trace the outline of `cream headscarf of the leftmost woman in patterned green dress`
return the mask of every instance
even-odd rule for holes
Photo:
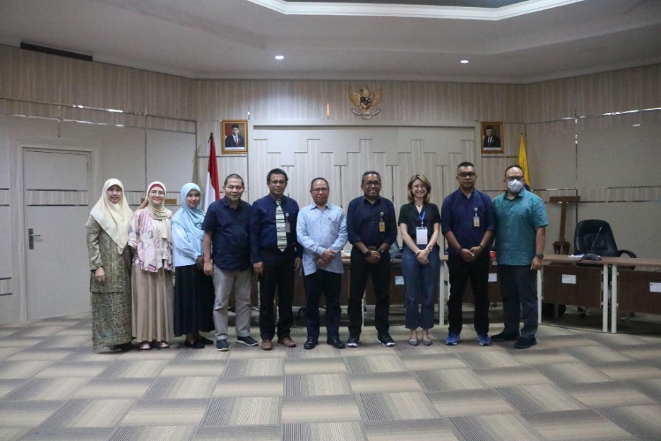
[[[119,201],[119,204],[113,204],[108,199],[108,189],[113,185],[121,188],[121,201]],[[129,208],[129,203],[126,202],[124,185],[121,184],[121,181],[112,178],[103,184],[101,197],[92,208],[92,211],[90,211],[90,215],[108,233],[113,242],[117,244],[119,254],[124,252],[126,242],[129,242],[129,224],[131,223],[133,211]]]

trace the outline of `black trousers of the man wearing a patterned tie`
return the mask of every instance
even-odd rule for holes
[[[290,336],[294,314],[292,299],[294,298],[294,260],[296,252],[285,249],[285,252],[272,249],[261,249],[264,272],[259,281],[259,333],[262,340],[278,339]],[[275,329],[275,309],[273,302],[278,294],[278,329]]]

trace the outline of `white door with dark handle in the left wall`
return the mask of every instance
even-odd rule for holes
[[[90,310],[90,174],[89,152],[23,150],[28,319]]]

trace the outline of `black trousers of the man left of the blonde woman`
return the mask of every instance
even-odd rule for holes
[[[376,264],[368,264],[362,252],[357,248],[351,250],[351,273],[349,276],[349,335],[360,336],[362,327],[362,298],[371,276],[376,296],[374,310],[374,326],[379,334],[385,334],[390,329],[388,313],[390,312],[390,253],[384,252]]]

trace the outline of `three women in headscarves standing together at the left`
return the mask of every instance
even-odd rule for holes
[[[213,343],[200,334],[213,329],[213,283],[200,259],[201,191],[184,185],[174,216],[165,194],[164,184],[152,182],[133,213],[123,184],[110,179],[90,212],[85,227],[95,351],[129,349],[133,339],[141,350],[167,348],[175,335],[186,335],[192,348]]]

